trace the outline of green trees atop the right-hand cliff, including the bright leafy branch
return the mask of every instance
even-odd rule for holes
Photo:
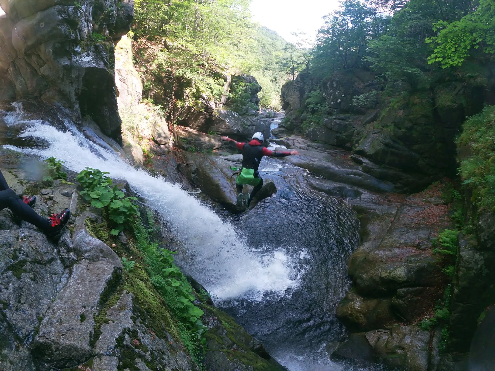
[[[315,126],[332,113],[321,82],[338,72],[373,74],[370,89],[352,99],[357,111],[378,102],[400,104],[445,81],[485,85],[493,25],[493,1],[343,1],[318,32],[310,66],[316,84],[299,112],[302,123]]]

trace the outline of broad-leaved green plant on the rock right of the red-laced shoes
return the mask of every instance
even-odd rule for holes
[[[125,197],[117,185],[112,187],[113,181],[105,174],[109,173],[86,168],[78,174],[77,180],[84,188],[80,194],[87,201],[91,201],[91,206],[108,211],[108,217],[114,223],[110,233],[117,235],[124,228],[135,225],[139,211],[132,201],[137,198]]]

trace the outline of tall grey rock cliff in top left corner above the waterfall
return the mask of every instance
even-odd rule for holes
[[[3,0],[0,100],[61,104],[120,141],[114,43],[134,17],[132,0]]]

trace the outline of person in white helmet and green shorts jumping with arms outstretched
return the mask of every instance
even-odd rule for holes
[[[297,151],[272,151],[263,147],[264,137],[260,132],[254,133],[249,143],[238,142],[225,136],[221,139],[234,142],[237,149],[243,151],[243,166],[241,168],[241,173],[236,178],[238,207],[242,207],[243,203],[245,203],[246,208],[249,207],[254,195],[263,186],[263,179],[261,179],[258,173],[259,163],[263,156],[285,157],[299,154]],[[243,196],[244,185],[254,185],[251,194],[246,194],[246,197]]]

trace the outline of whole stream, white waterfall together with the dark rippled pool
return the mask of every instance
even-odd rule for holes
[[[342,200],[307,185],[311,175],[303,169],[263,160],[261,175],[275,182],[277,194],[230,216],[179,185],[136,170],[69,119],[61,120],[64,127],[25,119],[15,104],[14,111],[0,110],[0,145],[56,157],[75,172],[92,167],[126,180],[173,230],[180,265],[289,370],[377,370],[329,358],[345,336],[334,313],[349,285],[346,260],[358,245],[359,226]]]

